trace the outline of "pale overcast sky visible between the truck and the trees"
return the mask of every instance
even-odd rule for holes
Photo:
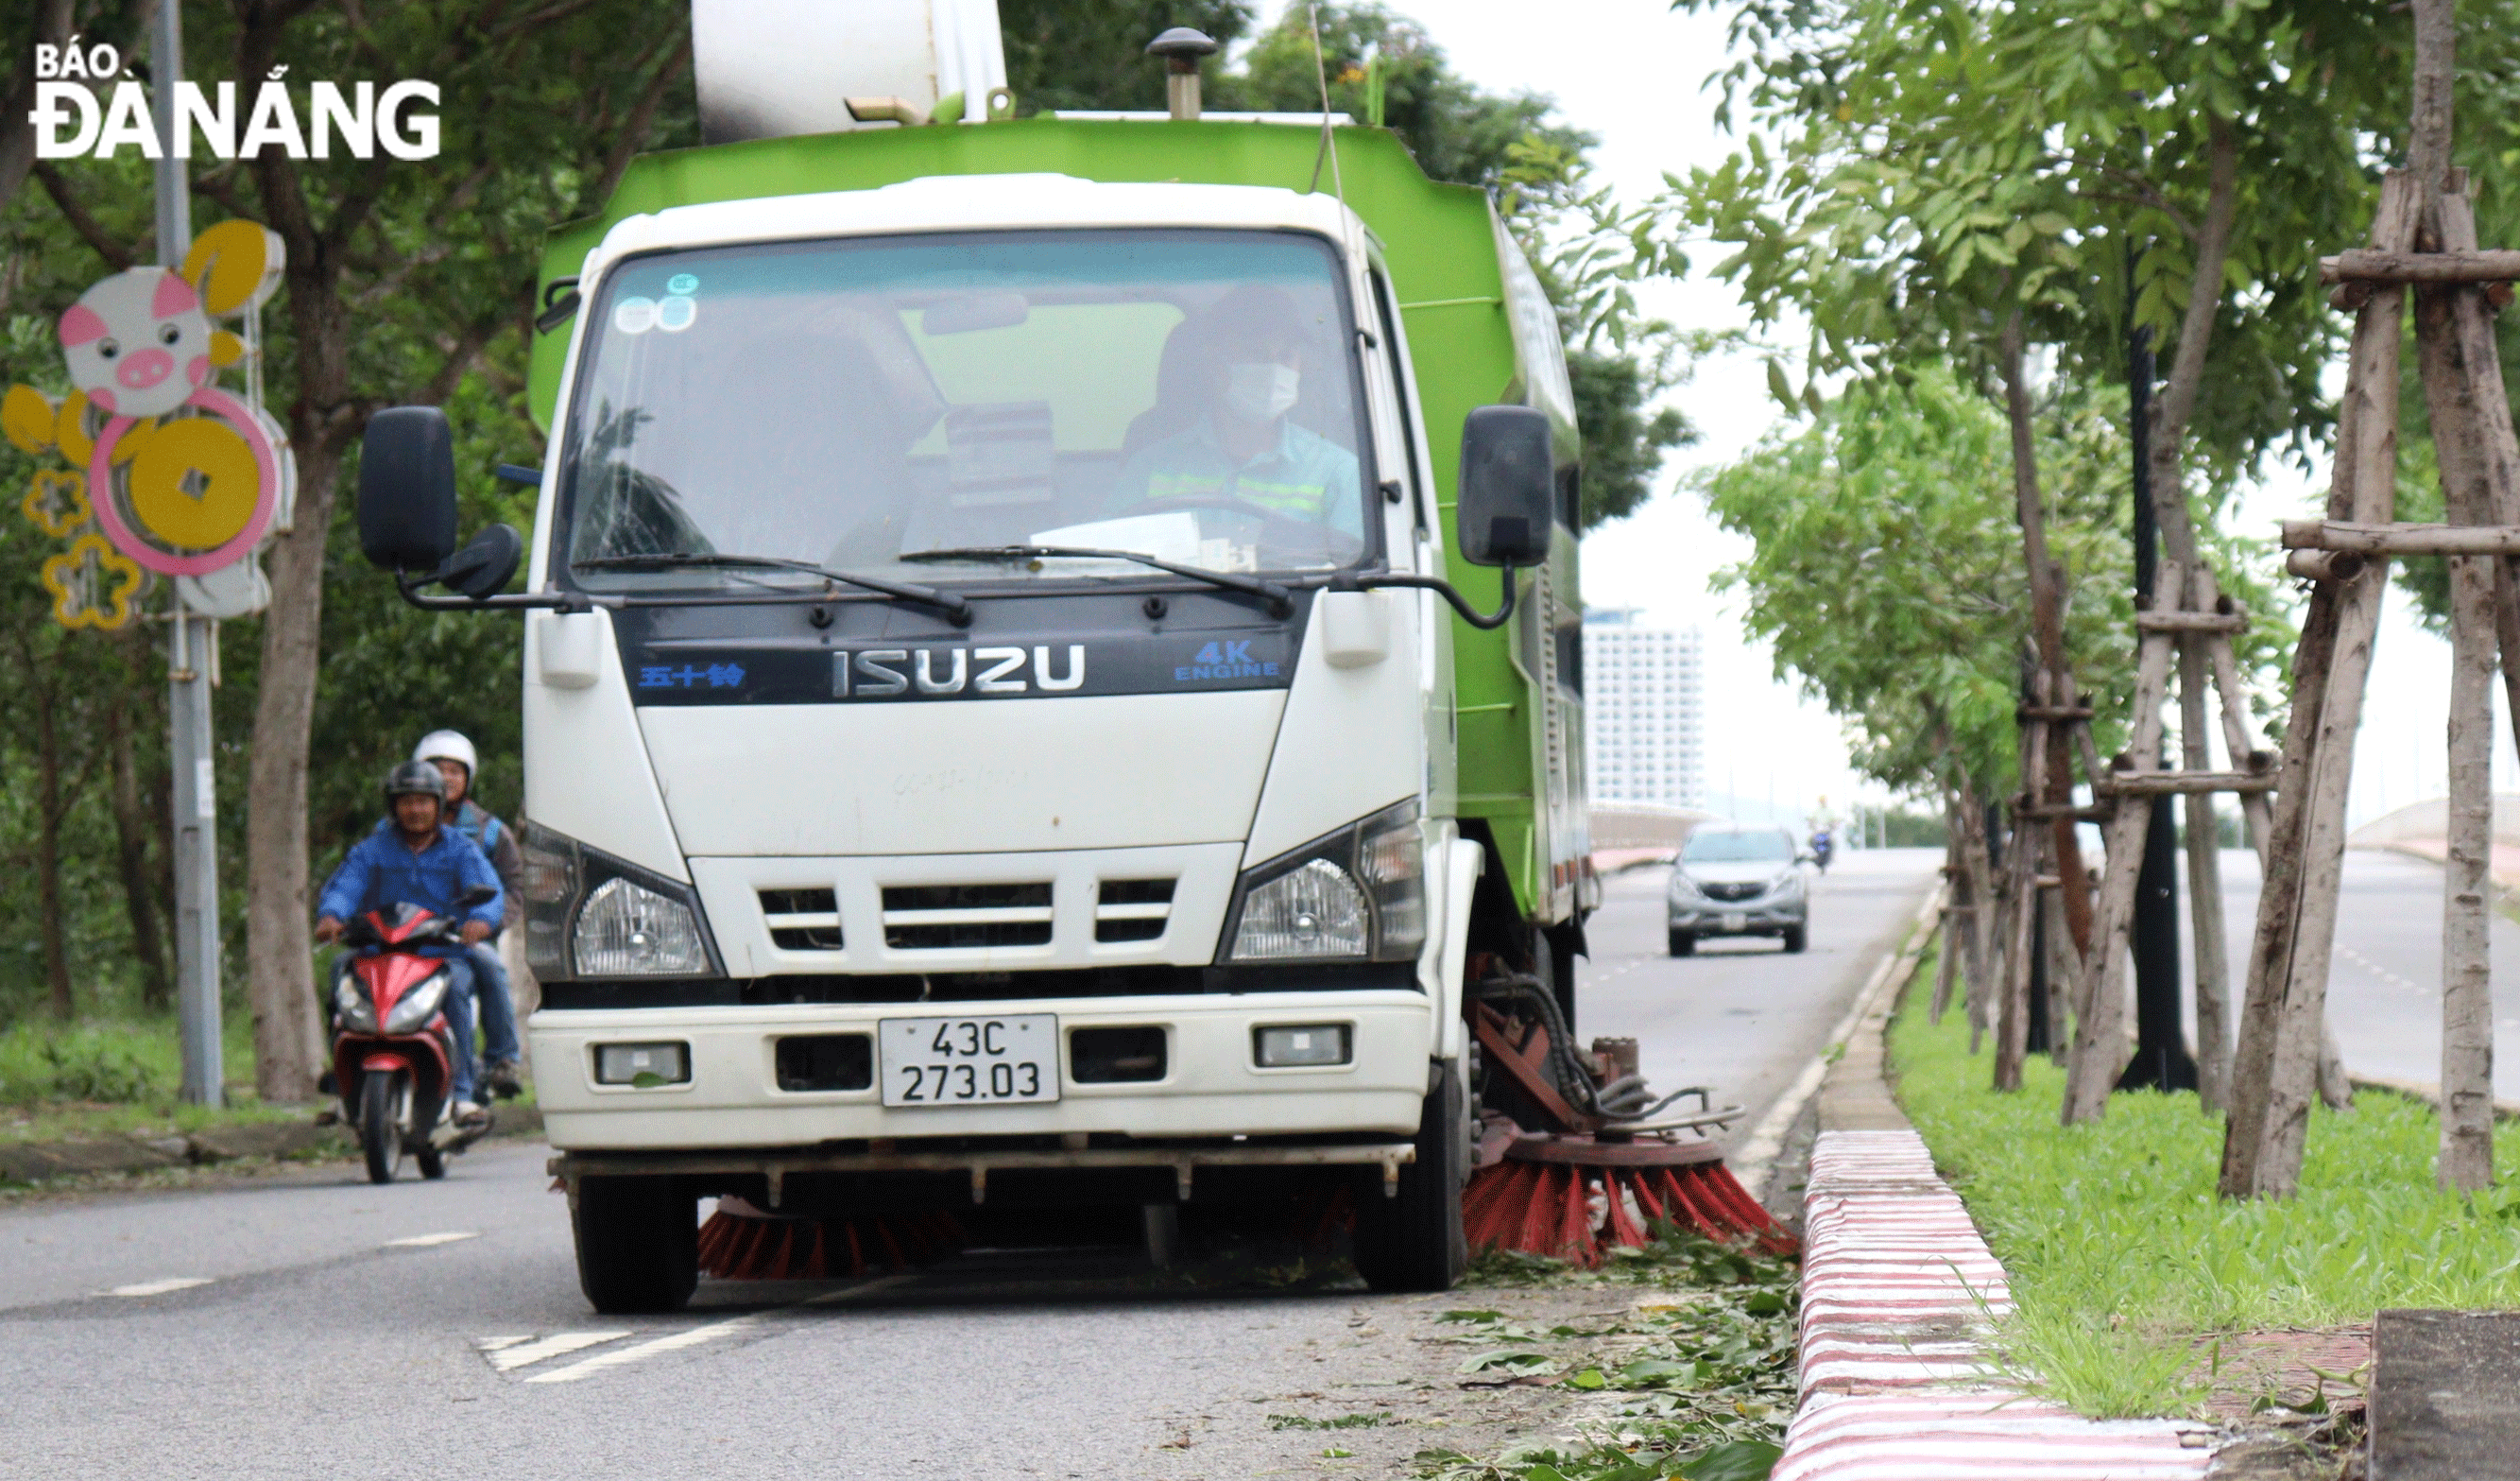
[[[1663,171],[1716,164],[1736,149],[1736,139],[1716,131],[1716,98],[1704,88],[1724,65],[1729,8],[1673,15],[1661,0],[1557,0],[1540,10],[1504,0],[1389,3],[1424,25],[1474,83],[1547,93],[1562,118],[1598,133],[1598,176],[1625,199],[1658,191]],[[1263,23],[1283,10],[1285,0],[1263,0]],[[1731,290],[1704,280],[1716,254],[1693,257],[1701,275],[1651,285],[1641,295],[1648,310],[1683,327],[1741,327],[1746,315]],[[1777,426],[1761,368],[1749,358],[1704,363],[1671,400],[1706,441],[1671,458],[1646,511],[1585,542],[1585,599],[1595,607],[1643,607],[1648,620],[1693,622],[1706,632],[1711,793],[1734,791],[1751,809],[1767,796],[1779,806],[1809,806],[1824,793],[1837,811],[1852,796],[1877,798],[1877,788],[1847,771],[1837,720],[1802,700],[1792,680],[1777,680],[1774,655],[1741,635],[1729,599],[1709,592],[1709,574],[1739,559],[1744,542],[1714,529],[1704,501],[1678,489],[1691,471],[1741,456]],[[2273,534],[2276,519],[2311,511],[2323,489],[2326,471],[2316,479],[2283,471],[2253,491],[2235,519]],[[2449,645],[2424,635],[2391,592],[2356,748],[2356,821],[2442,796],[2447,693]],[[2495,748],[2495,783],[2497,791],[2520,791],[2507,740]]]

